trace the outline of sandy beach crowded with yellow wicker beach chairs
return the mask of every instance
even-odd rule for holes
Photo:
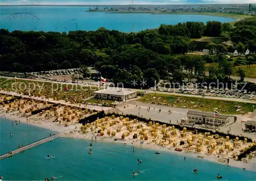
[[[5,99],[10,98],[1,95],[0,100],[3,100],[4,97]],[[134,145],[135,151],[143,148],[152,149],[154,152],[170,151],[187,158],[197,157],[227,166],[256,171],[255,151],[243,161],[236,161],[240,150],[252,144],[247,143],[246,140],[229,140],[229,138],[210,135],[209,133],[192,133],[186,131],[186,128],[179,131],[174,126],[159,125],[153,122],[146,124],[137,119],[132,120],[122,116],[99,118],[82,126],[78,121],[85,115],[93,114],[90,110],[82,111],[67,106],[59,106],[57,110],[51,109],[44,113],[32,115],[31,110],[33,109],[31,107],[33,105],[36,105],[33,109],[51,106],[44,101],[20,99],[11,104],[0,106],[0,116],[47,128],[49,132],[65,132],[63,137],[87,140],[93,138],[93,141],[97,138],[97,141],[102,142]],[[175,149],[180,149],[180,151]],[[227,160],[229,160],[228,164]]]

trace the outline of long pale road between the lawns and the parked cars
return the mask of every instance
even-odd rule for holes
[[[13,79],[13,77],[5,77],[0,76],[0,78],[6,78],[6,79]],[[19,79],[19,80],[25,80],[25,81],[37,81],[37,82],[48,82],[52,84],[69,84],[69,85],[77,85],[73,83],[60,83],[60,82],[53,82],[53,81],[45,81],[45,80],[33,80],[33,79]],[[90,85],[93,87],[92,82],[89,82]],[[88,83],[88,84],[89,84]],[[99,85],[99,84],[98,84]],[[96,85],[97,86],[97,85]],[[96,87],[95,86],[95,87]],[[124,88],[124,90],[136,90],[136,91],[142,91],[141,89],[129,89]],[[202,98],[201,95],[193,95],[193,94],[179,94],[179,93],[171,93],[171,92],[160,92],[160,91],[153,91],[153,90],[143,90],[146,93],[157,93],[157,94],[165,94],[165,95],[174,95],[174,96],[187,96],[187,97],[198,97]],[[216,97],[216,96],[205,96],[206,99],[215,99],[215,100],[227,100],[227,101],[236,101],[236,102],[245,102],[245,103],[251,103],[256,104],[256,100],[248,100],[248,99],[240,99],[240,98],[229,98],[229,97]]]

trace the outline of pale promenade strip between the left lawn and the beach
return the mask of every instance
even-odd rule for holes
[[[108,111],[109,107],[102,107],[102,106],[93,106],[93,105],[83,105],[83,104],[71,104],[69,102],[65,102],[65,100],[53,100],[53,98],[49,98],[49,99],[42,99],[42,97],[36,97],[36,96],[31,96],[29,97],[28,95],[24,95],[24,94],[18,94],[16,92],[6,92],[6,91],[0,91],[0,94],[8,94],[8,95],[14,95],[14,96],[22,96],[24,98],[28,98],[28,99],[34,99],[34,100],[40,100],[40,101],[47,101],[50,102],[52,104],[61,104],[61,105],[65,105],[65,106],[71,106],[71,107],[77,107],[77,108],[86,108],[86,109],[90,109],[90,110],[96,110],[96,111]]]

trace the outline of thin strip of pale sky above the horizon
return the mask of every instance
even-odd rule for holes
[[[0,0],[0,5],[255,4],[256,0]]]

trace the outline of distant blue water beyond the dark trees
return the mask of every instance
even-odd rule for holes
[[[234,21],[232,18],[178,15],[178,14],[114,14],[105,12],[84,12],[89,7],[60,6],[2,6],[1,28],[9,31],[56,31],[97,30],[104,27],[121,32],[139,32],[158,28],[160,24],[177,24],[187,21],[216,20]]]

